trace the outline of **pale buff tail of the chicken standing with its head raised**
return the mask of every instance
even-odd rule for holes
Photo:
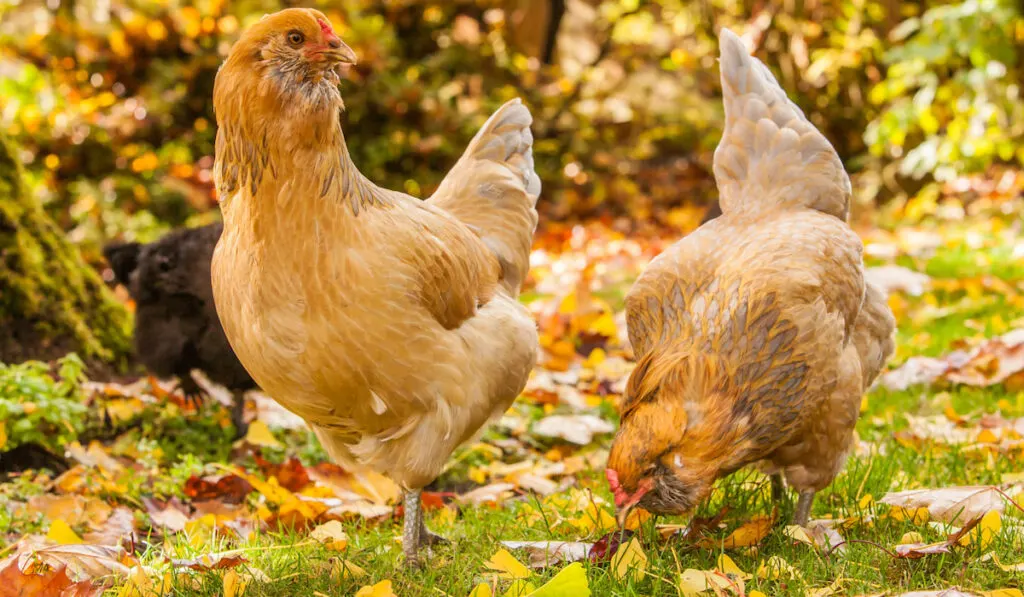
[[[517,98],[496,112],[427,200],[469,225],[498,258],[515,296],[529,270],[541,179],[534,171],[534,119]]]

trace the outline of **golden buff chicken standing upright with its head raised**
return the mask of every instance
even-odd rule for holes
[[[327,17],[264,17],[217,74],[224,231],[213,291],[241,361],[333,459],[407,494],[403,549],[436,541],[420,493],[519,394],[537,329],[516,300],[541,190],[529,112],[512,100],[423,202],[364,177],[342,134]]]

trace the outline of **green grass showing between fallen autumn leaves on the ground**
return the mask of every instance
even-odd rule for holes
[[[952,244],[939,250],[926,260],[901,258],[900,261],[915,269],[928,271],[943,280],[964,280],[990,274],[1008,283],[1018,291],[1024,282],[1024,265],[1014,262],[1011,253],[1001,246],[985,247],[972,254],[963,246]],[[979,270],[979,259],[986,269]],[[623,288],[606,289],[600,296],[621,308]],[[1009,297],[1005,287],[983,285],[980,289],[956,288],[951,285],[920,298],[902,298],[903,316],[900,321],[897,356],[894,364],[910,355],[939,355],[961,344],[983,337],[1001,334],[1013,327],[1020,327],[1024,309],[1020,301]],[[539,297],[530,297],[539,298]],[[932,305],[932,306],[930,306]],[[935,305],[938,305],[936,307]],[[936,312],[939,307],[956,305],[948,312]],[[1017,322],[1014,325],[1014,322]],[[1024,450],[1005,453],[957,449],[932,442],[905,441],[901,432],[907,428],[907,415],[942,416],[947,408],[976,424],[986,413],[1000,412],[1005,417],[1024,416],[1024,392],[1011,391],[1002,386],[972,387],[913,387],[906,391],[876,388],[865,400],[865,409],[857,425],[862,451],[852,456],[844,472],[827,489],[817,497],[813,517],[853,518],[866,514],[876,515],[871,523],[858,522],[841,530],[850,541],[844,552],[829,555],[806,545],[795,544],[782,532],[785,518],[792,513],[792,504],[782,505],[782,520],[756,548],[724,551],[720,547],[694,548],[678,539],[659,539],[655,523],[686,523],[688,518],[649,520],[641,528],[642,545],[649,565],[639,580],[620,580],[607,564],[585,562],[590,589],[595,596],[676,596],[678,575],[687,568],[711,569],[723,553],[727,553],[740,568],[753,573],[761,562],[777,556],[799,571],[799,575],[783,580],[752,579],[745,589],[761,591],[766,595],[805,595],[812,589],[839,583],[838,594],[871,594],[887,592],[899,594],[912,590],[936,590],[957,586],[971,591],[992,591],[1004,588],[1024,587],[1024,572],[1007,572],[992,561],[985,561],[977,545],[955,549],[948,554],[932,555],[918,560],[897,559],[892,551],[904,534],[921,532],[928,542],[940,541],[945,530],[928,524],[898,520],[887,516],[887,506],[873,503],[893,491],[945,487],[968,484],[997,484],[1004,475],[1024,470]],[[541,409],[520,401],[516,409],[527,416],[538,417]],[[607,416],[607,403],[596,412]],[[170,424],[168,424],[170,425]],[[199,427],[195,429],[200,429]],[[165,452],[181,453],[195,439],[180,429],[169,440]],[[323,457],[315,445],[303,443],[304,439],[292,437],[291,453],[304,455],[307,462]],[[486,440],[499,437],[496,431],[484,436]],[[532,441],[532,440],[531,440]],[[584,453],[606,450],[610,437],[601,438]],[[223,445],[223,444],[221,444]],[[548,443],[535,445],[543,451]],[[205,447],[204,454],[221,455],[223,447]],[[459,455],[456,457],[459,458]],[[460,465],[444,476],[446,485],[465,484],[471,466],[484,464],[480,455],[463,459]],[[179,467],[181,468],[181,467]],[[611,496],[600,471],[588,470],[579,475],[577,487],[593,492],[605,501],[603,508],[611,512]],[[180,480],[189,467],[176,473]],[[3,487],[0,485],[0,487]],[[9,495],[28,492],[8,486]],[[144,487],[136,491],[144,493]],[[732,529],[759,514],[768,514],[773,504],[769,497],[766,477],[744,470],[719,481],[712,499],[702,505],[696,516],[709,517],[724,507],[729,508],[726,527],[710,535],[724,539]],[[3,493],[0,493],[2,497]],[[872,500],[868,500],[870,496]],[[793,496],[788,497],[793,499]],[[210,552],[228,549],[243,551],[247,562],[234,568],[246,577],[247,570],[256,570],[257,577],[267,582],[253,582],[247,596],[330,596],[354,595],[365,585],[391,580],[397,595],[452,595],[464,597],[490,574],[484,562],[501,548],[502,541],[585,541],[593,542],[604,530],[588,531],[564,522],[580,514],[555,504],[557,499],[543,500],[527,496],[510,500],[501,507],[459,507],[456,516],[428,513],[428,524],[452,540],[451,545],[437,548],[428,565],[421,570],[406,569],[401,565],[401,549],[396,538],[400,536],[400,520],[367,523],[352,521],[345,524],[349,545],[344,552],[329,551],[312,542],[306,530],[279,530],[258,532],[246,542],[238,542],[216,534],[211,537],[191,537],[187,532],[171,535],[165,539],[151,537],[150,550],[142,561],[158,569],[166,569],[167,557],[191,558]],[[530,519],[527,514],[540,511],[542,517]],[[0,514],[3,509],[0,508]],[[559,520],[562,520],[559,523]],[[0,530],[3,526],[0,516]],[[20,526],[18,526],[20,524]],[[1020,526],[1017,526],[1020,524]],[[7,521],[8,530],[22,532],[37,530],[38,521]],[[1024,517],[1019,510],[1008,506],[1004,526],[985,552],[994,552],[1005,564],[1024,561]],[[146,538],[143,538],[146,539]],[[713,542],[719,545],[720,542]],[[520,561],[527,555],[514,552]],[[336,560],[344,558],[362,567],[366,575],[359,579],[332,575]],[[540,586],[553,578],[563,566],[537,570],[531,582]],[[174,595],[213,597],[223,594],[223,570],[195,572],[173,579]],[[504,591],[508,582],[501,582]],[[110,595],[117,592],[112,590]],[[502,594],[499,592],[498,594]],[[712,593],[707,593],[711,595]]]

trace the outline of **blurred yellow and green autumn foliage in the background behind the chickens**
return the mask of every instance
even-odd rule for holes
[[[1024,162],[1012,0],[571,0],[552,65],[512,41],[513,27],[538,26],[522,11],[539,2],[312,2],[359,55],[342,94],[360,169],[426,197],[519,95],[535,114],[545,217],[692,223],[680,206],[715,194],[722,26],[851,168],[927,181]],[[214,76],[242,30],[287,4],[0,0],[0,127],[74,241],[147,241],[217,217]],[[869,199],[886,193],[876,184]]]

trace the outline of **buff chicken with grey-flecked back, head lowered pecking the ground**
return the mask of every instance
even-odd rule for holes
[[[606,475],[620,519],[682,514],[763,463],[814,494],[850,450],[861,396],[893,351],[886,297],[847,225],[850,179],[768,69],[723,29],[723,215],[654,259],[626,299],[637,367]]]

